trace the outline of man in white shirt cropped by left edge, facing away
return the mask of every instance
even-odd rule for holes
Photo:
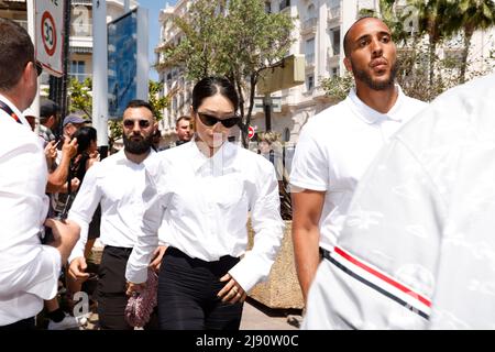
[[[0,19],[0,330],[31,330],[43,300],[57,293],[78,229],[47,221],[55,242],[41,243],[47,167],[21,111],[36,96],[42,67],[28,32],[13,21]]]

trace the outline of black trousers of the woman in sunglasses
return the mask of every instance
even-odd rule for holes
[[[191,258],[168,248],[158,278],[158,323],[163,330],[239,330],[243,304],[222,302],[220,278],[239,258],[217,262]]]

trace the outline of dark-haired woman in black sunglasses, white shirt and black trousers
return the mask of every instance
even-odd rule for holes
[[[128,294],[144,287],[165,222],[161,329],[239,329],[246,293],[267,277],[280,245],[273,165],[227,141],[238,106],[228,79],[200,80],[193,90],[194,143],[160,153],[146,167],[145,212],[125,276]],[[249,212],[255,238],[246,252]]]

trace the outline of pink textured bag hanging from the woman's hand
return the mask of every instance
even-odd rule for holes
[[[125,320],[132,327],[144,327],[157,304],[158,275],[148,268],[146,288],[141,293],[134,293],[125,307]]]

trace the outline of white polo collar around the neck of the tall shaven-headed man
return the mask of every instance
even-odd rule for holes
[[[395,85],[395,89],[397,90],[397,100],[395,101],[392,109],[386,113],[378,112],[375,109],[366,106],[358,97],[358,95],[355,92],[355,87],[353,87],[351,89],[346,100],[348,100],[348,103],[351,106],[351,108],[356,112],[356,114],[362,120],[364,120],[366,123],[373,124],[373,123],[377,123],[377,122],[384,121],[384,120],[394,120],[394,121],[400,122],[400,121],[403,121],[403,119],[399,114],[399,111],[400,111],[400,107],[403,106],[405,96],[404,96],[403,89],[400,88],[399,85]]]

